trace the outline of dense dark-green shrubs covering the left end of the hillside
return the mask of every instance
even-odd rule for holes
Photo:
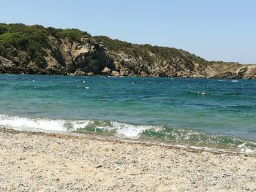
[[[78,29],[45,28],[24,24],[4,24],[0,23],[0,55],[10,58],[10,54],[15,55],[15,51],[10,51],[10,45],[18,50],[26,51],[31,60],[37,64],[45,63],[45,50],[50,48],[48,37],[56,38],[69,37],[73,41],[80,41],[86,32]]]

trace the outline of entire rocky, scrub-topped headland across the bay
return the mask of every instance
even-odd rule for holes
[[[256,65],[208,62],[75,29],[0,24],[0,73],[256,79]]]

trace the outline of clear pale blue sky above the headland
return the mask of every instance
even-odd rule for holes
[[[254,0],[0,0],[1,23],[79,28],[176,47],[209,61],[256,64]]]

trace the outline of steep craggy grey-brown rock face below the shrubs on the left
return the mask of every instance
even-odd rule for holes
[[[7,57],[0,56],[1,73],[24,74],[101,74],[113,61],[105,47],[93,38],[83,36],[79,42],[49,36],[43,61],[33,61],[26,50],[7,45]]]

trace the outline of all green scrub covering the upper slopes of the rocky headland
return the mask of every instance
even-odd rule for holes
[[[72,41],[79,42],[83,35],[88,34],[74,28],[45,28],[39,25],[26,26],[24,24],[0,23],[0,55],[11,58],[11,55],[15,55],[15,51],[10,50],[10,47],[15,47],[18,50],[26,51],[32,61],[35,61],[37,64],[43,64],[45,63],[45,48],[50,48],[49,36],[56,37],[56,39],[68,37]],[[110,51],[116,53],[124,52],[128,55],[142,58],[148,64],[153,64],[155,61],[155,57],[152,55],[157,55],[158,58],[163,60],[180,58],[185,61],[185,64],[189,65],[195,63],[208,64],[208,61],[203,58],[176,48],[151,46],[148,44],[137,45],[117,39],[110,39],[105,36],[94,38],[97,42],[104,42],[105,47]]]

